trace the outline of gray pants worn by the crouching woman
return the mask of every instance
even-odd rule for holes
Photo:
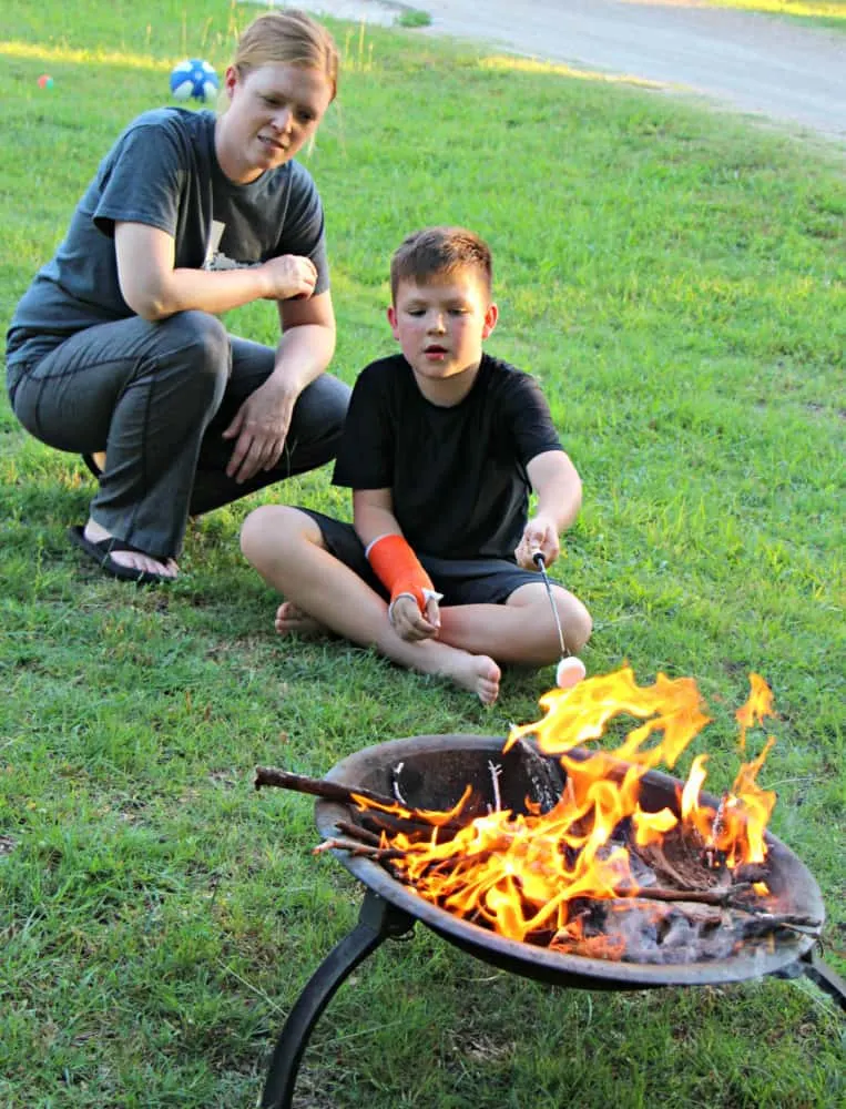
[[[222,433],[274,368],[271,347],[226,333],[215,316],[182,312],[78,332],[33,365],[11,366],[18,419],[51,447],[106,452],[91,517],[159,558],[179,556],[188,516],[335,457],[349,388],[322,374],[299,396],[272,470],[226,477],[235,440]]]

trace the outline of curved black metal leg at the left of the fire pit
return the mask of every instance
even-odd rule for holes
[[[414,926],[412,916],[368,889],[358,924],[326,956],[288,1014],[273,1052],[261,1109],[291,1109],[303,1052],[337,988],[379,944],[410,932]]]

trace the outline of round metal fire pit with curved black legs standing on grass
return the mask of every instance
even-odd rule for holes
[[[409,808],[451,810],[469,785],[469,807],[462,818],[491,808],[516,813],[547,811],[567,785],[559,760],[544,755],[521,739],[503,752],[504,740],[486,735],[417,735],[358,751],[339,762],[323,780],[339,787],[344,800],[323,797],[315,805],[317,828],[333,842],[345,828],[360,824],[361,810],[345,797],[353,792],[401,797]],[[570,749],[575,760],[583,749]],[[497,771],[492,773],[492,764]],[[611,767],[624,776],[625,764]],[[273,774],[273,772],[267,772]],[[256,784],[283,784],[266,779]],[[640,777],[640,805],[649,813],[679,811],[681,783],[649,770]],[[720,800],[702,793],[715,810]],[[528,802],[528,804],[527,804]],[[822,926],[824,906],[819,888],[804,864],[774,835],[766,844],[766,885],[785,919],[811,919]],[[310,1032],[345,978],[386,938],[408,933],[417,920],[470,955],[504,970],[559,986],[583,989],[644,989],[661,986],[703,986],[740,981],[763,975],[796,977],[807,974],[822,988],[846,1004],[846,986],[814,955],[816,933],[776,927],[765,939],[751,939],[725,954],[685,962],[632,962],[591,958],[507,938],[462,919],[425,901],[412,887],[397,881],[370,857],[353,848],[333,849],[335,857],[366,887],[359,920],[317,969],[292,1009],[277,1041],[262,1098],[263,1109],[288,1109],[299,1064]],[[736,949],[735,949],[736,948]]]

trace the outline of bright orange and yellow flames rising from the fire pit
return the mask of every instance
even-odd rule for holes
[[[753,674],[751,681],[750,701],[736,713],[744,744],[746,730],[763,715],[773,715],[772,693],[763,679]],[[632,670],[623,667],[570,690],[552,690],[540,704],[542,720],[512,728],[503,751],[533,735],[541,752],[558,756],[565,771],[562,796],[547,813],[527,802],[527,813],[490,812],[463,824],[452,838],[442,838],[439,827],[460,814],[468,786],[449,813],[427,814],[430,836],[394,832],[388,837],[384,832],[383,845],[404,853],[391,865],[420,896],[508,938],[567,947],[583,935],[587,903],[631,897],[642,888],[625,844],[661,847],[675,833],[699,843],[730,869],[764,861],[764,831],[775,794],[762,790],[756,776],[772,737],[757,759],[741,766],[718,807],[702,801],[705,754],[693,760],[679,790],[677,812],[641,806],[643,775],[661,764],[672,767],[710,723],[692,679],[659,674],[654,684],[639,686]],[[621,716],[641,723],[615,750],[585,754],[583,745],[600,739]],[[363,808],[374,807],[358,801]],[[389,811],[411,815],[401,805]],[[420,815],[415,813],[417,820]],[[763,883],[758,886],[756,893],[766,892]],[[601,940],[594,936],[585,943],[604,957],[620,957],[618,938]]]

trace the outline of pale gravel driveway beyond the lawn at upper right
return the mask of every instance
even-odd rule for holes
[[[393,23],[400,4],[310,0],[315,12]],[[846,140],[846,34],[699,0],[410,0],[431,26],[500,50],[656,81],[717,106]]]

